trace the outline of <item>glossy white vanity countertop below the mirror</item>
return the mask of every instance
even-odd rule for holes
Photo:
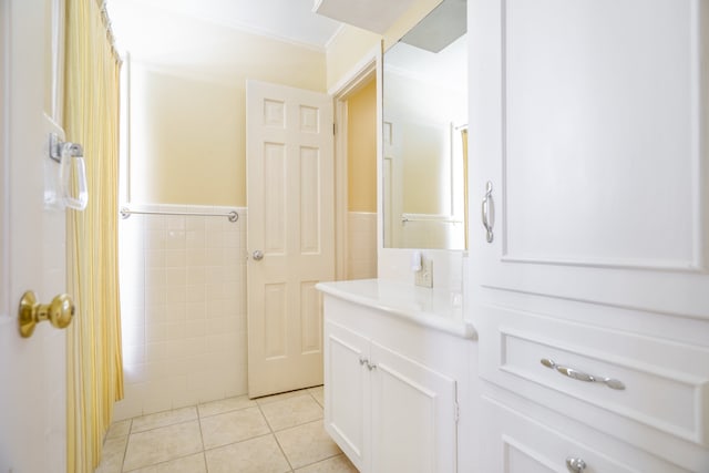
[[[319,282],[320,291],[456,337],[475,339],[473,325],[463,318],[462,296],[386,279]]]

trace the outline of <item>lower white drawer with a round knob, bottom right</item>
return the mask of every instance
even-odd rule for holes
[[[594,439],[574,438],[551,429],[492,399],[482,399],[482,469],[500,473],[549,473],[574,471],[567,460],[585,465],[583,473],[687,472],[634,449],[605,452]],[[582,463],[583,462],[583,463]]]

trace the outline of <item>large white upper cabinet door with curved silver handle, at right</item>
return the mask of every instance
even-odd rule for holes
[[[492,185],[492,241],[480,217],[470,228],[473,304],[709,317],[708,10],[471,1],[473,208]]]

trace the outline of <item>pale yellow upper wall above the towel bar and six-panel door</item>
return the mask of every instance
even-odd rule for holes
[[[132,45],[130,200],[246,206],[246,80],[325,92],[326,54],[164,21],[169,41]]]

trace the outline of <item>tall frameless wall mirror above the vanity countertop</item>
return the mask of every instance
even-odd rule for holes
[[[466,1],[443,0],[383,55],[386,248],[465,249]]]

